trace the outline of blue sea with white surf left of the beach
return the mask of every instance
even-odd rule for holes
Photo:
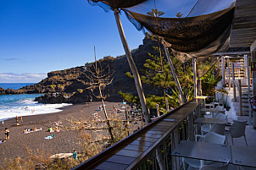
[[[19,89],[28,83],[1,83],[3,89]],[[5,88],[4,88],[5,87]],[[45,114],[61,112],[61,107],[67,107],[71,104],[42,104],[34,101],[37,96],[43,94],[21,94],[21,95],[0,95],[0,121],[15,118],[16,116],[29,116],[36,114]]]

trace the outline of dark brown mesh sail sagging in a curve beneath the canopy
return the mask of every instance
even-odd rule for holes
[[[216,41],[231,26],[234,8],[190,18],[160,18],[125,11],[177,52],[197,52]]]

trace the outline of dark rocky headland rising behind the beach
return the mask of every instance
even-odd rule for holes
[[[145,60],[149,58],[147,53],[155,53],[153,47],[156,46],[158,46],[157,42],[144,39],[143,45],[131,52],[139,72],[143,69]],[[121,100],[118,95],[119,90],[136,94],[134,80],[125,75],[126,72],[131,71],[125,56],[118,58],[105,57],[100,59],[99,63],[101,63],[102,68],[109,66],[110,71],[114,71],[113,83],[104,90],[104,93],[109,96],[107,101]],[[0,88],[0,94],[45,93],[44,96],[36,98],[36,101],[42,103],[95,101],[97,98],[93,96],[92,91],[87,90],[88,86],[82,83],[82,81],[87,81],[85,68],[91,67],[92,63],[86,63],[85,66],[53,71],[47,74],[47,79],[36,85],[27,85],[19,90],[3,90],[3,88]],[[146,94],[150,92],[150,94],[160,95],[161,93],[161,90],[150,85],[143,85],[143,89]]]

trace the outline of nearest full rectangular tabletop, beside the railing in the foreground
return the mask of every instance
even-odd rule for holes
[[[171,155],[226,163],[231,160],[231,145],[181,140]]]

